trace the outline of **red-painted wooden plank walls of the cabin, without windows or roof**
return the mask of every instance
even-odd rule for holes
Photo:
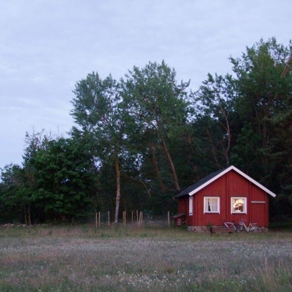
[[[251,183],[236,171],[231,170],[193,195],[193,215],[189,216],[189,196],[179,198],[179,213],[186,213],[187,225],[206,226],[222,225],[223,220],[235,221],[241,218],[257,223],[258,226],[269,225],[269,198],[262,189]],[[220,198],[220,213],[203,213],[204,197]],[[231,197],[247,198],[247,214],[231,214]],[[257,201],[257,202],[252,202]],[[265,203],[258,203],[265,201]]]

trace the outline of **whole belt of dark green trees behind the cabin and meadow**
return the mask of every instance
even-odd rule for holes
[[[271,219],[292,218],[292,42],[261,39],[230,62],[196,91],[164,61],[119,80],[88,74],[70,133],[26,133],[22,165],[1,169],[0,221],[175,212],[175,194],[231,164],[277,194]]]

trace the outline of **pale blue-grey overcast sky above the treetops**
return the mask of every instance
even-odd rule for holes
[[[291,0],[0,0],[0,167],[26,131],[66,133],[74,84],[162,59],[197,90],[261,37],[288,45]]]

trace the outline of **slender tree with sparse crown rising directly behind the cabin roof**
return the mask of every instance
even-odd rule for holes
[[[210,152],[218,167],[230,164],[236,94],[235,81],[230,74],[215,74],[214,77],[210,73],[193,94],[195,118],[203,121],[204,136],[209,141]],[[224,157],[223,165],[219,156]]]

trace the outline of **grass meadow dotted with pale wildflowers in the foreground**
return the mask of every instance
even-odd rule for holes
[[[292,233],[0,227],[0,291],[292,291]]]

